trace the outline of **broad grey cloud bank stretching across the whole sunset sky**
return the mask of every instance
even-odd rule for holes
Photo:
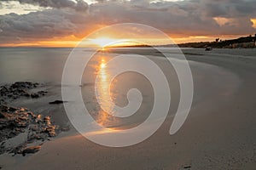
[[[20,0],[20,3],[37,3],[52,9],[30,14],[0,16],[0,43],[26,42],[69,35],[84,37],[100,26],[124,22],[154,26],[170,35],[183,37],[244,35],[256,31],[250,21],[256,16],[253,0],[189,0],[159,3],[148,3],[146,0],[102,1],[91,4],[89,12],[86,13],[79,12],[84,8],[84,1],[75,3],[69,0]],[[220,26],[213,19],[215,17],[230,19],[230,22]]]

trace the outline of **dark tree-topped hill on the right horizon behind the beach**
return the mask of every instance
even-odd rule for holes
[[[180,48],[256,48],[255,47],[255,37],[239,37],[232,40],[219,40],[216,39],[215,42],[188,42],[178,44]]]

